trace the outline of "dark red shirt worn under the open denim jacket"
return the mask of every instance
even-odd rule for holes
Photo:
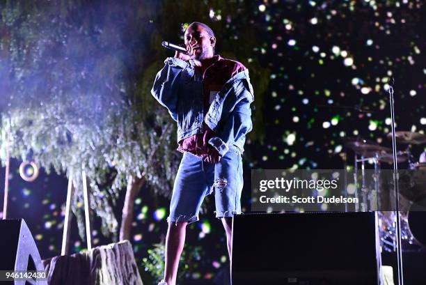
[[[204,71],[203,74],[203,99],[204,99],[204,116],[210,107],[210,104],[214,100],[216,93],[221,91],[223,84],[231,79],[238,72],[246,70],[246,67],[238,61],[232,61],[230,59],[223,59],[221,56],[214,56],[214,62]],[[204,130],[208,129],[208,126],[203,123]],[[207,155],[208,144],[203,145],[204,134],[194,134],[191,137],[187,137],[179,141],[178,151],[193,153],[198,156]],[[207,138],[208,141],[209,138]]]

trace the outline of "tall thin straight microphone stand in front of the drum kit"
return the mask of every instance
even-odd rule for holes
[[[394,80],[389,79],[389,100],[390,100],[390,119],[392,121],[392,153],[393,153],[393,189],[395,191],[395,217],[396,217],[396,240],[397,240],[397,263],[398,263],[398,284],[404,285],[403,268],[402,268],[402,247],[401,247],[401,219],[400,219],[400,190],[398,185],[398,164],[397,164],[397,151],[396,151],[396,138],[395,138],[395,109],[393,105],[393,85]]]

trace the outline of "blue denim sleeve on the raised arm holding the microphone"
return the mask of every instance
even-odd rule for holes
[[[178,91],[180,74],[187,68],[186,61],[168,57],[165,65],[155,77],[151,94],[164,107],[168,109],[173,120],[178,121]]]

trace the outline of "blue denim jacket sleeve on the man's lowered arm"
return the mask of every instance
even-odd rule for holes
[[[205,120],[216,136],[209,139],[209,144],[216,148],[221,156],[228,152],[229,147],[253,128],[250,105],[253,102],[253,89],[248,82],[242,80],[235,93],[228,93],[217,124]]]

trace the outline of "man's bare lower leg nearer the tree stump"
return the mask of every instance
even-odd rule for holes
[[[166,236],[166,265],[164,281],[167,285],[176,284],[180,254],[185,243],[188,222],[169,222]]]

